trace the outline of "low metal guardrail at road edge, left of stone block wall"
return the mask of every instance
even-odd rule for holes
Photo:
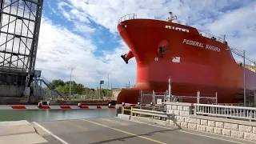
[[[132,114],[145,114],[150,116],[156,116],[161,118],[171,118],[174,114],[168,114],[162,111],[154,111],[154,110],[142,110],[142,109],[132,109]]]

